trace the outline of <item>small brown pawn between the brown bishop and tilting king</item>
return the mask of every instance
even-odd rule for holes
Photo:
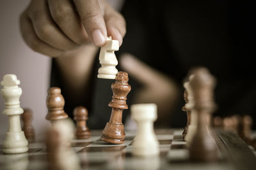
[[[88,120],[88,111],[83,106],[78,106],[73,111],[74,120],[76,120],[76,138],[87,139],[91,137],[91,132],[86,127],[86,120]]]

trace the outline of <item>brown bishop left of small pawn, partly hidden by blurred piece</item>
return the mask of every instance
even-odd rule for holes
[[[48,90],[48,96],[46,99],[48,113],[46,115],[47,120],[61,120],[68,117],[67,113],[63,110],[65,100],[61,95],[61,90],[58,87],[51,87]]]

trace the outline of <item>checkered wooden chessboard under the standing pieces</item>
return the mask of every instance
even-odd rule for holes
[[[159,157],[132,156],[135,132],[126,132],[122,145],[100,141],[101,131],[92,131],[90,139],[74,139],[72,149],[77,153],[81,169],[254,169],[256,152],[236,134],[214,130],[220,153],[218,162],[189,161],[186,142],[181,129],[156,129],[160,144]],[[3,154],[0,148],[0,169],[48,169],[45,143],[29,143],[29,152]],[[67,159],[68,160],[68,159]]]

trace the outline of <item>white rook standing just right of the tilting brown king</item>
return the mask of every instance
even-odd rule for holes
[[[132,144],[132,154],[141,157],[158,155],[159,142],[154,133],[154,121],[157,119],[156,104],[133,104],[131,115],[138,127]]]

